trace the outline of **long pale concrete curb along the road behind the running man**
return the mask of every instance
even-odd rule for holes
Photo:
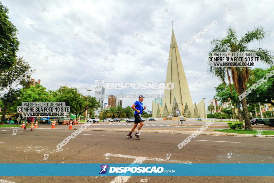
[[[74,128],[77,130],[78,128]],[[130,129],[117,128],[87,128],[85,130],[92,131],[111,131],[111,132],[130,132]],[[134,131],[137,131],[136,129]],[[192,134],[195,131],[178,131],[178,130],[141,130],[144,133],[177,133],[177,134]],[[221,135],[221,136],[239,136],[239,137],[274,137],[274,135],[253,135],[241,133],[224,133],[224,132],[201,132],[201,135]]]

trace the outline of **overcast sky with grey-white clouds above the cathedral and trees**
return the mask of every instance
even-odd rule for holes
[[[172,20],[193,102],[215,95],[219,80],[207,73],[213,38],[229,26],[238,35],[263,26],[269,37],[253,46],[273,51],[272,1],[40,1],[2,0],[19,31],[20,51],[48,89],[77,87],[85,95],[95,79],[105,82],[165,80]],[[164,9],[168,8],[164,13]],[[227,10],[228,8],[228,10]],[[190,46],[180,45],[213,20],[218,23]],[[135,37],[139,32],[139,37]],[[78,36],[77,36],[78,35]],[[104,62],[105,57],[108,58]],[[257,64],[257,67],[266,68]],[[197,86],[201,80],[201,86]],[[94,96],[94,91],[90,92]],[[106,94],[163,94],[163,90],[106,90]],[[137,99],[122,99],[123,107]],[[151,109],[152,99],[145,99]],[[107,99],[105,99],[107,102]]]

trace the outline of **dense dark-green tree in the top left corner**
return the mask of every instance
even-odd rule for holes
[[[8,12],[7,7],[0,1],[0,72],[15,64],[19,50],[18,30],[9,20]]]

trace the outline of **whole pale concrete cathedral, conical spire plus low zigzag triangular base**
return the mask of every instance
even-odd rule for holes
[[[174,83],[173,89],[165,89],[163,106],[152,101],[152,117],[164,118],[167,116],[177,116],[176,108],[179,113],[186,118],[206,118],[204,99],[199,104],[192,103],[189,92],[187,78],[182,65],[177,41],[172,28],[169,62],[165,84]],[[172,114],[172,115],[171,115]]]

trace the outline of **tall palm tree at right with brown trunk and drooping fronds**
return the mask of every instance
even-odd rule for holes
[[[252,31],[247,31],[241,37],[237,37],[236,31],[229,27],[227,35],[222,39],[214,39],[211,41],[213,48],[211,49],[209,55],[212,52],[255,52],[257,56],[260,56],[260,61],[267,65],[274,65],[274,57],[271,55],[272,52],[264,49],[262,47],[258,48],[248,48],[248,44],[252,41],[262,41],[268,32],[265,31],[261,26],[254,27]],[[230,80],[229,71],[231,72],[231,77],[234,83],[234,87],[238,94],[242,94],[246,90],[246,82],[249,79],[249,67],[224,67],[211,69],[211,64],[209,64],[208,70],[215,74],[221,81],[224,81],[226,77]],[[226,72],[227,76],[224,74]],[[230,86],[230,85],[229,85]],[[246,98],[244,97],[241,101],[243,105],[243,115],[245,130],[252,130],[249,117]]]

